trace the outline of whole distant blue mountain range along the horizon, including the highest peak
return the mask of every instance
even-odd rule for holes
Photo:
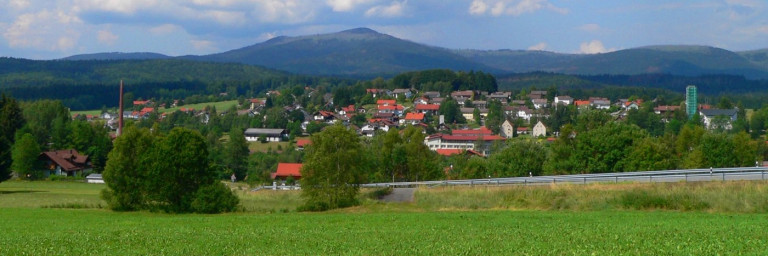
[[[768,49],[732,52],[710,46],[647,46],[602,54],[526,50],[454,50],[356,28],[331,34],[276,37],[222,53],[171,57],[157,53],[97,53],[64,60],[182,59],[241,63],[297,74],[376,77],[425,69],[495,74],[544,71],[577,75],[741,75],[768,79]]]

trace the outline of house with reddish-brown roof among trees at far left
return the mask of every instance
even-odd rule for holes
[[[43,152],[38,159],[45,163],[43,176],[77,176],[92,169],[88,156],[74,149]]]

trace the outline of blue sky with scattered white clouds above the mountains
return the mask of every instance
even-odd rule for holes
[[[0,0],[0,56],[203,55],[368,27],[452,49],[768,48],[765,0]]]

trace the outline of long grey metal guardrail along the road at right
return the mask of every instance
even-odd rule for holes
[[[646,172],[614,172],[533,177],[486,178],[471,180],[437,180],[413,182],[382,182],[361,184],[361,187],[466,186],[466,185],[544,185],[557,183],[587,184],[594,182],[677,182],[711,180],[764,180],[766,167],[734,167],[716,169],[687,169]]]

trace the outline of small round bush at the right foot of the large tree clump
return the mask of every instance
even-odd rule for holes
[[[192,210],[198,213],[231,212],[237,209],[240,199],[224,183],[217,182],[200,187],[192,201]]]

